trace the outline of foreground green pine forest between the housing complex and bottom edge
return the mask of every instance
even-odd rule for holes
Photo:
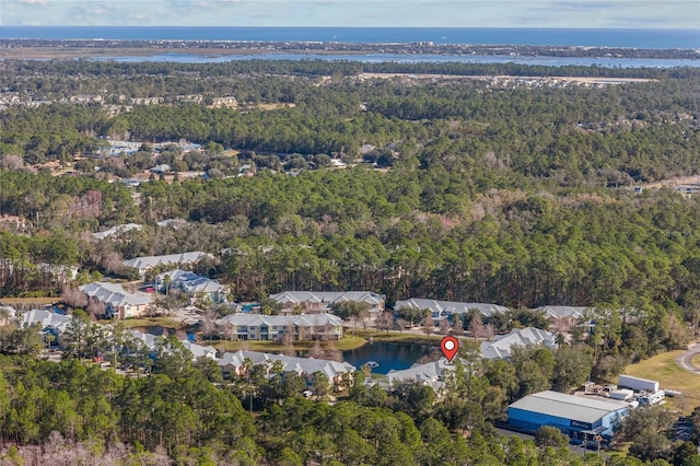
[[[302,398],[304,382],[275,368],[270,378],[254,366],[247,376],[224,380],[213,361],[192,363],[176,339],[163,345],[170,351],[141,377],[75,356],[59,363],[0,356],[0,442],[11,445],[3,464],[690,466],[699,458],[690,442],[665,438],[673,417],[656,409],[625,423],[632,455],[614,454],[608,463],[569,450],[563,434],[546,428],[534,441],[499,435],[492,422],[508,393],[572,376],[564,361],[583,363],[576,368],[585,372],[584,353],[568,346],[486,365],[475,359],[476,347],[467,349],[440,403],[419,383],[387,393],[368,388],[357,373],[329,405]],[[313,391],[326,397],[327,380],[316,375]],[[700,410],[691,420],[700,424]],[[644,426],[652,422],[660,430],[650,434]]]

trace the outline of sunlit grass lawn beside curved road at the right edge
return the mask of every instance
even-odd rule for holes
[[[684,413],[689,415],[693,408],[700,406],[700,375],[684,371],[676,364],[676,358],[684,350],[656,354],[653,358],[628,365],[625,373],[643,378],[658,381],[660,388],[670,388],[682,393],[682,396],[666,398],[666,403]],[[698,363],[698,357],[695,362]]]

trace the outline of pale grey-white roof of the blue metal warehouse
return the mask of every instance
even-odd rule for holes
[[[627,408],[627,404],[547,391],[527,395],[509,406],[510,408],[594,423],[610,412]]]

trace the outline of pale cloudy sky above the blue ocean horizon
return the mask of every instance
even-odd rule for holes
[[[700,0],[0,0],[0,25],[700,28]]]

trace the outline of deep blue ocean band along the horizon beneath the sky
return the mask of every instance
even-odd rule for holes
[[[485,44],[700,49],[700,28],[2,26],[0,38]]]

